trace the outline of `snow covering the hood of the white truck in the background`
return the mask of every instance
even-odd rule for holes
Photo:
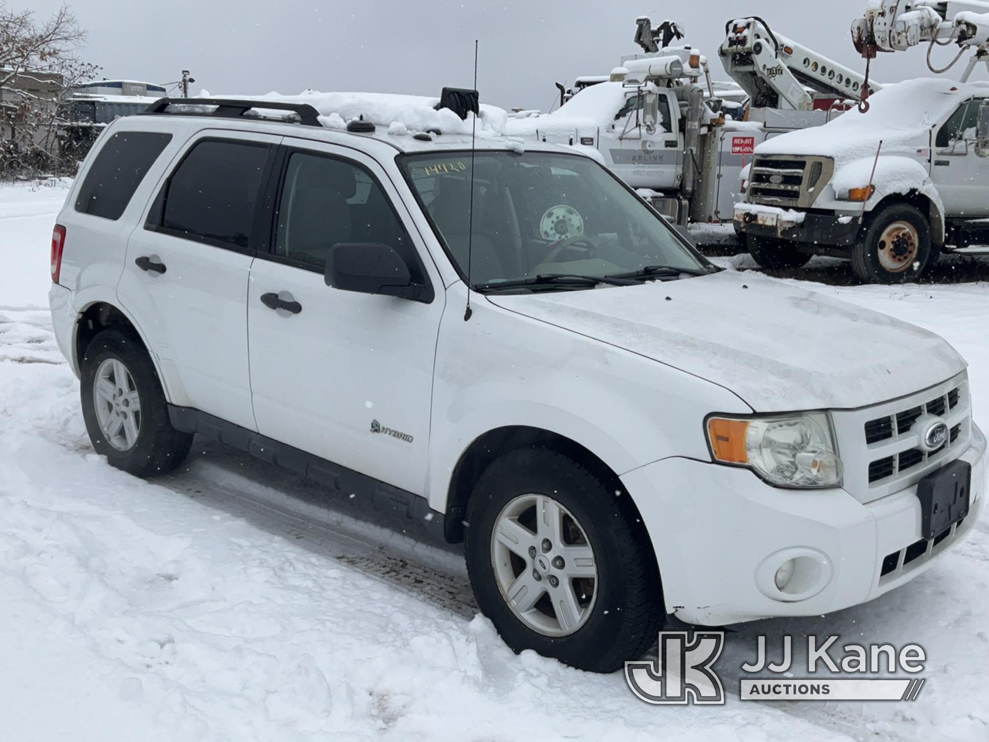
[[[849,111],[823,127],[790,132],[756,147],[757,154],[819,154],[841,164],[875,154],[915,154],[919,139],[965,98],[985,95],[986,83],[922,78],[887,85],[869,97],[869,110]]]

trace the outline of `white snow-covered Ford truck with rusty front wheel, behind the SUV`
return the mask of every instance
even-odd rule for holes
[[[735,225],[767,268],[826,254],[863,281],[915,280],[989,229],[987,155],[989,85],[909,80],[758,146]]]

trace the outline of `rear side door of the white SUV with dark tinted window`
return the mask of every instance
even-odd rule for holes
[[[250,429],[247,281],[280,140],[221,131],[191,139],[131,236],[118,286],[172,403]]]

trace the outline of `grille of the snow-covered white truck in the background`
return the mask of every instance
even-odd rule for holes
[[[809,209],[817,199],[818,188],[831,179],[834,167],[834,161],[827,157],[756,157],[747,200],[766,206]]]

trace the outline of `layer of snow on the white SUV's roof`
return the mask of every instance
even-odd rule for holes
[[[243,100],[279,101],[282,103],[307,103],[319,112],[321,123],[330,129],[343,129],[346,123],[361,116],[379,126],[395,124],[405,129],[405,133],[426,132],[437,129],[443,134],[471,134],[472,117],[462,120],[449,109],[436,111],[438,97],[403,95],[398,93],[319,93],[307,90],[301,95],[238,95]],[[496,106],[481,105],[478,119],[479,136],[496,136],[504,132],[508,114]],[[402,130],[395,127],[393,134]]]

